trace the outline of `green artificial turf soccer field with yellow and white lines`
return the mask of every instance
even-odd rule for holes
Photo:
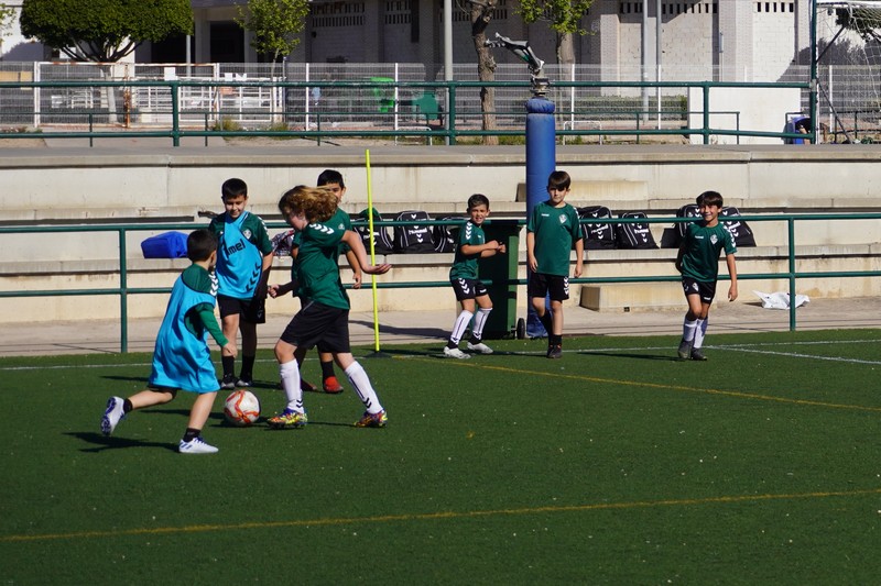
[[[881,330],[356,350],[389,412],[307,394],[309,424],[131,413],[150,356],[0,358],[4,584],[871,584],[881,575]],[[311,355],[312,357],[312,355]],[[304,366],[318,378],[316,361]],[[282,408],[261,352],[254,392]]]

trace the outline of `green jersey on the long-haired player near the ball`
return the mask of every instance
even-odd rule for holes
[[[345,233],[346,229],[336,221],[333,224],[312,223],[301,232],[296,255],[296,292],[300,296],[325,306],[349,309],[349,297],[339,278],[337,264]]]

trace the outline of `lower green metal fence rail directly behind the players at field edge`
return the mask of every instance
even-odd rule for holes
[[[776,214],[776,215],[741,215],[739,220],[750,222],[786,222],[787,226],[787,256],[788,264],[787,270],[782,273],[757,273],[757,274],[739,274],[739,280],[754,280],[754,279],[771,279],[781,278],[788,280],[790,298],[795,299],[796,281],[803,278],[864,278],[864,277],[879,277],[881,270],[829,270],[829,272],[800,272],[796,269],[796,262],[798,256],[796,254],[795,242],[795,224],[796,222],[831,222],[831,221],[853,221],[853,220],[879,220],[881,213],[818,213],[818,214]],[[693,219],[686,218],[649,218],[649,219],[609,219],[603,220],[611,224],[619,223],[671,223],[671,222],[689,222]],[[516,230],[520,231],[525,224],[524,220],[496,220],[499,226],[514,224]],[[355,225],[363,224],[365,222],[354,222]],[[394,225],[412,225],[413,221],[376,221],[374,226],[394,226]],[[431,225],[438,224],[457,224],[461,222],[450,220],[435,220],[426,222]],[[597,223],[596,220],[586,220],[584,223]],[[493,221],[487,220],[489,229],[492,229]],[[287,228],[282,223],[268,223],[269,228],[281,229]],[[128,263],[127,263],[127,243],[126,236],[129,232],[142,231],[167,231],[167,230],[193,230],[196,228],[193,223],[161,223],[161,224],[107,224],[107,225],[42,225],[42,226],[0,226],[0,236],[3,234],[51,234],[59,232],[74,232],[74,233],[106,233],[115,232],[118,235],[118,263],[119,263],[119,286],[105,287],[105,288],[88,288],[88,289],[48,289],[48,290],[30,290],[17,291],[6,290],[0,291],[0,298],[29,298],[29,297],[58,297],[58,296],[113,296],[119,298],[119,321],[120,321],[120,350],[128,352],[128,301],[131,295],[143,294],[167,294],[171,287],[130,287],[128,284]],[[516,244],[516,235],[512,241],[509,241],[513,246]],[[512,255],[513,256],[513,255]],[[588,259],[589,262],[589,259]],[[518,285],[525,285],[525,279],[519,279],[516,274],[516,263],[509,263],[507,266],[507,279],[499,283],[499,279],[486,279],[490,286],[515,287]],[[721,279],[727,279],[727,276],[720,276]],[[572,284],[603,284],[603,283],[665,283],[678,281],[677,275],[670,276],[641,276],[631,275],[627,277],[584,277],[573,278]],[[449,283],[443,281],[396,281],[390,283],[380,280],[377,283],[378,288],[383,289],[399,289],[399,288],[423,288],[423,287],[448,287]],[[499,306],[502,303],[499,302]],[[511,309],[513,308],[513,309]],[[499,309],[502,309],[501,307]],[[516,311],[515,303],[509,305],[504,311]],[[500,316],[502,319],[505,317]],[[796,316],[794,303],[790,307],[790,330],[796,329]],[[507,317],[510,322],[511,316]]]

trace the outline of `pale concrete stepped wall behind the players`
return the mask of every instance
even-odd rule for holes
[[[363,152],[352,148],[280,148],[218,152],[180,150],[174,153],[89,152],[51,150],[30,154],[10,151],[0,158],[4,189],[0,222],[58,221],[154,222],[162,219],[205,225],[200,210],[220,211],[219,186],[238,176],[250,187],[251,209],[279,222],[275,202],[296,184],[314,183],[326,167],[344,173],[348,185],[345,208],[357,212],[367,204]],[[873,145],[779,146],[567,146],[558,147],[557,165],[573,176],[569,201],[605,204],[616,213],[648,211],[672,218],[675,210],[707,189],[717,189],[727,204],[744,214],[779,212],[849,212],[881,210],[881,147]],[[518,195],[524,183],[520,147],[394,147],[371,148],[373,204],[391,214],[404,209],[433,213],[465,211],[474,192],[490,197],[496,215],[522,218]],[[652,224],[657,242],[672,222]],[[740,272],[780,273],[786,269],[785,222],[752,223],[757,248],[740,252]],[[170,287],[184,261],[143,259],[140,242],[162,230],[128,233],[130,287]],[[274,230],[272,231],[274,232]],[[881,221],[803,222],[797,224],[798,270],[879,270]],[[0,234],[0,290],[54,290],[119,287],[118,242],[113,232]],[[525,257],[520,254],[521,278]],[[675,250],[603,251],[588,256],[588,277],[672,275]],[[387,281],[446,281],[449,254],[392,255]],[[278,262],[272,281],[286,279],[286,261]],[[595,309],[665,307],[678,303],[675,284],[599,285],[584,300]],[[758,281],[741,288],[780,290],[785,283]],[[581,301],[575,286],[573,303]],[[455,306],[446,287],[381,289],[380,309],[446,309]],[[592,291],[592,292],[591,292]],[[811,279],[800,292],[817,297],[881,295],[881,279]],[[520,299],[524,303],[524,291]],[[590,300],[590,297],[594,297]],[[138,295],[129,300],[132,317],[160,317],[164,295]],[[368,291],[352,294],[354,309],[371,307]],[[270,312],[290,313],[291,303],[271,303]],[[115,319],[112,296],[8,299],[0,323]]]

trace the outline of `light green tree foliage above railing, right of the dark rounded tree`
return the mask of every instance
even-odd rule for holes
[[[308,13],[307,0],[248,0],[248,10],[239,7],[236,22],[253,33],[254,51],[276,62],[300,44],[297,35],[306,25]]]

